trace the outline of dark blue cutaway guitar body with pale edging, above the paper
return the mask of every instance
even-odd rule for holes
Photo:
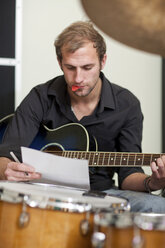
[[[87,130],[78,123],[69,123],[56,129],[42,126],[30,147],[44,151],[88,151],[89,136]]]

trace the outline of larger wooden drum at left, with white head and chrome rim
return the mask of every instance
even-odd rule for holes
[[[95,211],[128,203],[122,198],[84,196],[84,191],[0,182],[0,248],[92,247]]]

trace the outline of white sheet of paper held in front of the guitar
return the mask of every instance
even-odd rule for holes
[[[66,158],[21,147],[23,163],[42,173],[43,182],[89,190],[88,160]]]

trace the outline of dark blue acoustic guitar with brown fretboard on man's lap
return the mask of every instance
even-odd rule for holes
[[[0,120],[0,143],[8,122],[13,114]],[[99,152],[95,139],[96,151],[89,151],[89,134],[79,123],[69,123],[56,129],[42,126],[30,147],[68,158],[87,159],[92,167],[142,167],[150,166],[152,161],[162,154]]]

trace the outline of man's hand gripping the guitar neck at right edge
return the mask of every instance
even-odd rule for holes
[[[151,163],[152,176],[150,187],[153,190],[165,188],[165,156],[158,158],[156,162]]]

